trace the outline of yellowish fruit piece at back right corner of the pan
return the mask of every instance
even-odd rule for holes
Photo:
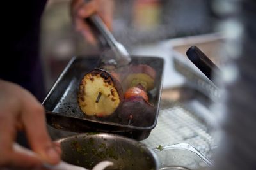
[[[142,86],[145,91],[148,91],[154,88],[155,78],[156,71],[146,64],[130,66],[127,69],[122,86],[124,90],[127,90],[129,87]]]

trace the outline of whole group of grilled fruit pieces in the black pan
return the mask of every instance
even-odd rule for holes
[[[88,116],[113,116],[122,124],[150,125],[154,121],[154,106],[149,103],[147,92],[154,88],[155,78],[156,71],[145,64],[122,70],[93,69],[79,86],[79,106]]]

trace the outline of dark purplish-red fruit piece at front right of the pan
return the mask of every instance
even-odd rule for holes
[[[142,96],[124,99],[118,111],[122,124],[148,127],[154,123],[154,107]]]

